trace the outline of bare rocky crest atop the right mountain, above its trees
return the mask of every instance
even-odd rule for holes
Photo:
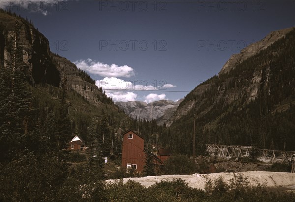
[[[262,40],[250,44],[249,46],[245,47],[241,50],[238,54],[233,54],[231,58],[223,65],[222,69],[218,73],[223,74],[231,69],[234,69],[235,66],[245,59],[254,56],[255,54],[259,53],[261,50],[266,49],[268,46],[273,44],[275,41],[279,40],[280,38],[284,37],[286,33],[290,32],[293,28],[286,28],[281,29],[278,31],[273,31],[269,33],[266,37],[264,37]]]

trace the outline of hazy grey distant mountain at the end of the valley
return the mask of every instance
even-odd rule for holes
[[[167,122],[177,109],[181,100],[159,100],[151,103],[140,101],[115,102],[115,104],[132,118],[156,120],[159,125]]]

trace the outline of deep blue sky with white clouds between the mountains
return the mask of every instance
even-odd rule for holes
[[[13,3],[13,4],[12,4]],[[115,101],[183,98],[232,54],[295,26],[293,0],[1,0]]]

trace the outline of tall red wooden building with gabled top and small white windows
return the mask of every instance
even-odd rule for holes
[[[123,133],[122,167],[143,171],[145,165],[144,138],[132,130]]]

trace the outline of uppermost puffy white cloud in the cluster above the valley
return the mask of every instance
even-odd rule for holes
[[[88,58],[87,60],[77,60],[73,62],[76,66],[89,72],[91,74],[96,74],[102,77],[131,77],[134,76],[133,68],[124,65],[118,66],[116,64],[104,64],[101,62],[93,61],[92,59]]]

